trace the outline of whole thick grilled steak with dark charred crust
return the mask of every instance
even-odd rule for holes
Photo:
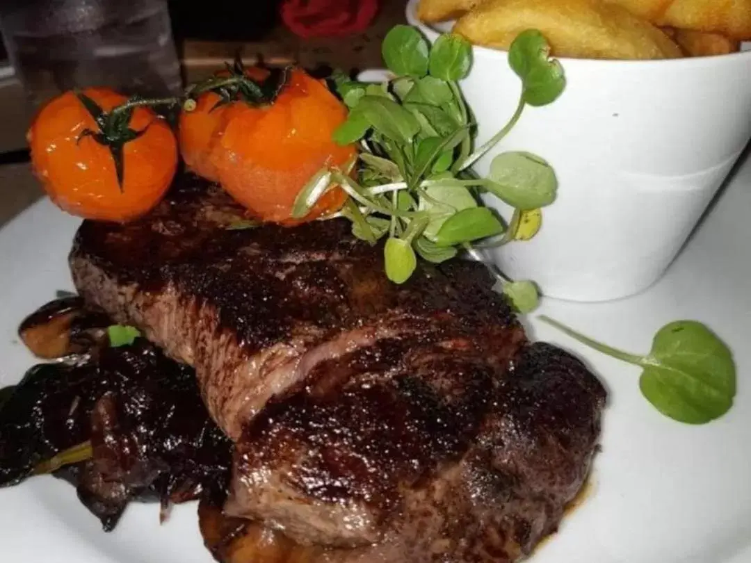
[[[71,271],[195,367],[236,443],[229,515],[363,562],[510,560],[555,528],[605,391],[526,344],[483,266],[421,264],[394,285],[347,221],[234,228],[228,197],[179,182],[140,221],[84,221]]]

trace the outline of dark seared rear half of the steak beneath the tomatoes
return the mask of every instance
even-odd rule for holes
[[[357,241],[348,221],[234,230],[242,209],[193,176],[181,181],[141,221],[84,221],[71,272],[86,301],[195,366],[231,438],[319,360],[412,319],[520,330],[479,264],[423,266],[397,286],[382,274],[382,248]]]

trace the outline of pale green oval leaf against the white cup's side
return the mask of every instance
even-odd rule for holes
[[[487,190],[517,209],[537,209],[556,199],[558,181],[550,164],[529,152],[503,152],[490,163]]]

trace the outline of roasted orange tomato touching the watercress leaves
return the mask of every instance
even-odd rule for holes
[[[212,106],[208,96],[198,101],[204,113]],[[252,107],[237,101],[227,108],[221,116],[212,118],[213,125],[182,130],[181,152],[193,170],[218,181],[263,221],[300,222],[291,218],[300,189],[321,167],[341,166],[355,153],[354,146],[342,147],[331,139],[346,119],[345,107],[323,83],[302,70],[291,72],[287,85],[270,106]],[[181,127],[189,122],[189,116],[184,117]],[[205,116],[201,119],[208,124]],[[207,135],[209,129],[213,133]],[[197,146],[206,149],[201,158],[189,160],[198,154],[190,148]],[[345,200],[341,188],[333,188],[303,220],[335,212]]]

